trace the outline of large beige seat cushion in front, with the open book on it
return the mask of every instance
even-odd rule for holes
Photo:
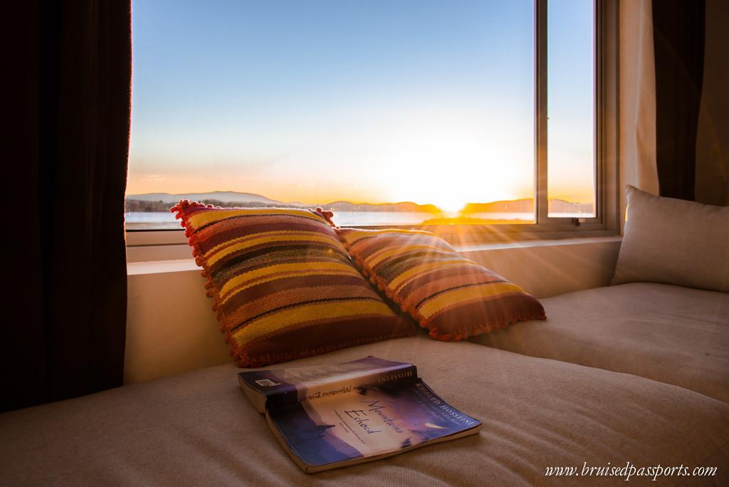
[[[521,326],[521,325],[520,325]],[[510,330],[517,330],[514,327]],[[510,331],[501,330],[501,331]],[[693,391],[475,343],[410,338],[288,362],[413,362],[477,435],[307,475],[243,394],[233,363],[0,415],[4,486],[729,485],[729,405]],[[273,365],[273,368],[280,367]],[[718,467],[715,476],[585,467]],[[548,468],[572,467],[572,478]],[[628,469],[626,469],[627,472]],[[693,480],[693,483],[692,483]],[[702,485],[704,485],[702,484]]]

